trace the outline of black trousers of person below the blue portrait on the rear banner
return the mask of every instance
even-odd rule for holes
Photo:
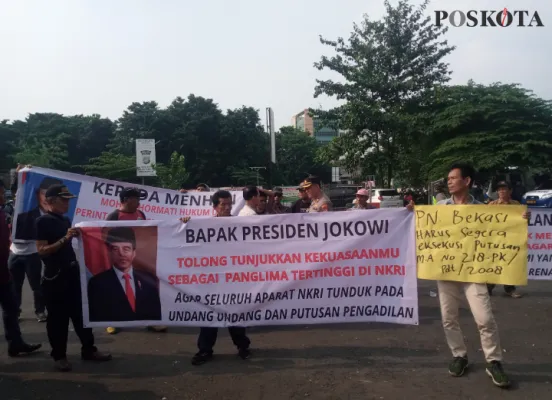
[[[44,298],[42,296],[42,261],[38,253],[28,255],[10,254],[8,260],[13,281],[15,284],[15,293],[17,296],[17,308],[21,310],[21,297],[23,292],[23,282],[25,275],[29,279],[29,285],[33,290],[35,313],[44,312]]]

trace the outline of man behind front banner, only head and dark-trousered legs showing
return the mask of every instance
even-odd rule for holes
[[[226,190],[215,192],[212,197],[213,208],[216,212],[216,217],[231,217],[232,214],[232,194]],[[238,355],[243,360],[247,360],[251,356],[249,346],[251,341],[245,333],[245,328],[229,327],[228,332],[232,338],[232,342],[238,348]],[[201,365],[213,358],[213,347],[217,341],[218,328],[200,328],[197,345],[199,352],[192,358],[193,365]]]

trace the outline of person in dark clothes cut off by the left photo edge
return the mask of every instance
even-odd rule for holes
[[[0,206],[5,202],[6,187],[0,181]],[[16,357],[22,353],[32,353],[42,347],[40,344],[28,344],[21,336],[19,328],[19,304],[13,288],[13,280],[8,269],[10,253],[10,230],[4,211],[0,209],[0,307],[4,322],[4,335],[8,341],[8,355]]]

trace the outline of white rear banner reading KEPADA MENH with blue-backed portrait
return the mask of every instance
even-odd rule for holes
[[[66,216],[73,224],[83,221],[105,220],[107,215],[120,206],[119,194],[125,187],[140,189],[145,200],[140,209],[147,219],[178,220],[182,217],[208,217],[214,215],[211,204],[213,192],[190,192],[140,186],[111,181],[87,175],[72,174],[46,168],[23,169],[19,172],[16,197],[16,215],[13,223],[14,240],[34,240],[35,220],[47,210],[45,193],[56,184],[67,186],[76,195],[71,200]],[[232,213],[243,207],[242,192],[232,192]]]

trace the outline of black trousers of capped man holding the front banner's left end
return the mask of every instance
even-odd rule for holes
[[[57,361],[67,357],[69,320],[73,322],[75,333],[81,341],[81,355],[86,356],[96,352],[92,329],[83,326],[78,267],[67,267],[57,278],[43,280],[42,288],[48,310],[46,331],[52,347],[50,353],[52,358]]]

